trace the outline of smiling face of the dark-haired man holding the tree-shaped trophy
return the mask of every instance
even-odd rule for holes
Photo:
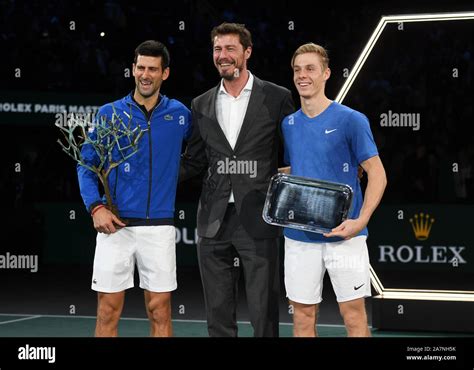
[[[147,99],[159,93],[161,84],[169,76],[169,68],[163,70],[161,57],[138,55],[137,62],[133,63],[133,76],[135,91]]]

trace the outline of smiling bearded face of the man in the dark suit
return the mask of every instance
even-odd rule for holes
[[[251,53],[250,46],[244,50],[237,34],[217,35],[214,38],[214,65],[226,80],[233,80],[247,69],[247,59]]]

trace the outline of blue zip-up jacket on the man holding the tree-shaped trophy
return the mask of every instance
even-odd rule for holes
[[[133,93],[133,92],[132,92]],[[131,129],[140,125],[144,130],[138,152],[114,168],[109,175],[109,188],[120,217],[162,219],[174,217],[176,186],[183,140],[191,135],[191,112],[181,102],[160,95],[150,120],[133,100],[132,94],[101,107],[96,119],[110,120],[114,112]],[[94,133],[92,133],[93,135]],[[126,144],[121,143],[122,145]],[[125,155],[130,153],[127,150]],[[120,153],[115,147],[113,159]],[[98,165],[99,157],[90,144],[82,147],[82,156],[89,165]],[[81,196],[87,210],[106,203],[101,198],[97,175],[78,165],[77,174]]]

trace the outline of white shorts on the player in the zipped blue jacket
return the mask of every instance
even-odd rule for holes
[[[132,288],[135,262],[140,288],[170,292],[176,282],[174,226],[131,226],[113,234],[97,234],[92,289],[116,293]]]

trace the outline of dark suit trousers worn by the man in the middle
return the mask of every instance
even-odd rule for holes
[[[217,235],[199,238],[199,269],[211,337],[237,336],[239,266],[244,274],[254,336],[278,337],[278,255],[278,238],[252,238],[231,203]]]

